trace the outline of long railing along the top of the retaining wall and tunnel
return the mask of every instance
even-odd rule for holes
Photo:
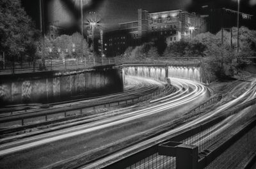
[[[95,57],[89,59],[47,59],[43,66],[42,61],[35,62],[0,62],[0,75],[2,74],[15,74],[15,73],[33,73],[41,71],[52,71],[52,70],[76,70],[84,68],[93,68],[94,66],[104,66],[108,64],[135,64],[140,62],[141,64],[199,64],[200,58],[168,58],[168,57],[156,57],[147,59],[131,59],[129,57]]]

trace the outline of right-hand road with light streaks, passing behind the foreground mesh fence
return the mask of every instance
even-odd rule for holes
[[[141,142],[137,145],[124,149],[120,152],[117,152],[116,154],[113,154],[112,156],[108,156],[105,159],[100,159],[95,163],[84,166],[84,169],[94,168],[99,163],[104,163],[104,161],[115,159],[118,156],[122,156],[122,154],[139,149],[140,147],[143,147],[150,142],[157,142],[158,140],[163,139],[165,136],[172,135],[175,132],[181,131],[184,128],[189,128],[195,124],[200,124],[200,122],[206,121],[207,119],[211,119],[216,115],[222,115],[225,112],[227,112],[227,110],[229,110],[230,108],[246,103],[246,101],[250,101],[254,98],[256,98],[256,79],[251,78],[246,82],[239,83],[236,87],[234,87],[234,89],[228,92],[227,96],[223,99],[223,102],[217,104],[216,106],[214,106],[214,108],[212,108],[214,110],[207,112],[207,114],[202,115],[196,120],[188,122],[187,124],[179,126],[178,128],[175,128],[166,133],[163,133],[162,135],[151,138],[150,140]],[[255,108],[256,107],[254,105],[252,107],[242,110],[237,114],[232,114],[229,117],[227,117],[227,119],[212,126],[206,131],[202,131],[201,133],[198,133],[192,136],[191,138],[183,140],[182,142],[191,145],[197,145],[199,147],[199,152],[205,150],[213,151],[214,148],[218,147],[218,145],[225,142],[225,140],[227,140],[228,138],[230,138],[230,136],[236,133],[236,131],[240,129],[241,126],[243,126],[244,122],[248,121],[248,119],[252,118],[253,115],[255,115]],[[235,154],[235,152],[233,153]],[[154,156],[150,156],[149,159],[146,158],[145,161],[140,161],[140,163],[138,163],[136,167],[131,166],[131,168],[154,168],[156,165],[161,165],[163,166],[163,168],[172,168],[172,166],[175,165],[175,158],[169,158],[167,161],[167,159],[163,159],[163,156],[158,156],[157,154],[154,154]]]

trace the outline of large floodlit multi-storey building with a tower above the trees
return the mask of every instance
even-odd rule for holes
[[[120,55],[127,47],[143,42],[162,39],[170,44],[206,30],[204,18],[182,10],[148,13],[139,9],[138,20],[118,25],[118,30],[104,33],[104,52],[107,56]],[[195,30],[191,31],[189,27],[195,27]]]

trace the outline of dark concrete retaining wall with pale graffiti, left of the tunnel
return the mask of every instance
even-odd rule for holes
[[[1,81],[1,106],[51,103],[123,91],[122,70],[115,67]]]

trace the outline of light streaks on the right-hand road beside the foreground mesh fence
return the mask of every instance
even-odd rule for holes
[[[183,129],[189,128],[189,127],[194,126],[196,124],[200,124],[200,122],[207,121],[208,119],[211,119],[214,115],[221,114],[223,112],[223,110],[227,110],[228,108],[234,107],[234,106],[239,105],[241,103],[245,103],[246,101],[255,98],[255,96],[256,96],[256,79],[253,79],[252,83],[249,86],[248,86],[248,84],[244,84],[244,83],[242,84],[242,86],[243,87],[248,87],[247,90],[245,92],[243,92],[243,94],[241,94],[236,99],[230,101],[229,103],[225,103],[223,105],[220,105],[220,107],[216,108],[216,110],[213,110],[213,111],[203,115],[202,117],[199,117],[198,119],[195,119],[191,122],[188,122],[187,124],[179,126],[178,128],[172,129],[171,131],[168,131],[168,132],[163,133],[163,134],[161,134],[159,136],[156,136],[154,138],[150,138],[150,139],[146,140],[145,142],[138,143],[137,145],[133,145],[133,146],[127,148],[127,149],[124,149],[120,152],[117,152],[116,154],[113,154],[112,156],[108,156],[104,159],[100,159],[96,163],[92,163],[90,165],[84,166],[83,169],[94,168],[95,166],[97,166],[100,163],[104,163],[106,161],[111,161],[115,158],[118,158],[119,156],[122,156],[122,154],[127,154],[129,152],[136,151],[136,149],[139,149],[140,147],[145,147],[147,145],[150,145],[150,143],[160,143],[161,140],[163,140],[163,138],[166,138],[167,136],[173,135],[174,133],[182,131]],[[240,101],[240,103],[239,103],[239,101]],[[217,132],[216,129],[217,128],[219,129],[220,132],[224,131],[225,129],[230,127],[230,125],[237,122],[239,120],[239,118],[241,118],[241,116],[243,116],[243,111],[240,112],[237,115],[230,115],[230,117],[227,117],[227,119],[220,122],[220,124],[218,124],[218,126],[216,128],[213,128],[211,131],[209,131],[210,133],[206,133],[204,136],[202,136],[201,138],[198,138],[198,140],[195,140],[193,143],[197,144],[197,145],[204,144],[205,142],[209,141],[209,139],[211,139],[209,137],[209,135],[216,134],[216,132]],[[188,142],[189,141],[191,142],[191,140],[188,140]],[[154,165],[156,165],[156,163],[157,163],[156,161],[159,161],[159,159],[160,159],[160,157],[154,159]],[[147,163],[147,161],[145,161],[145,163]],[[145,166],[145,163],[142,163],[141,166]],[[140,168],[140,165],[138,166],[138,168]]]

